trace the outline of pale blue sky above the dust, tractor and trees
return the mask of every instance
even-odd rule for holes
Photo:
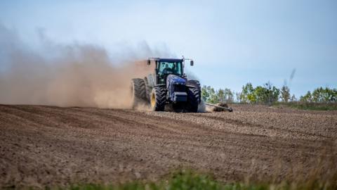
[[[27,44],[38,31],[53,42],[142,47],[194,58],[202,84],[289,80],[291,93],[337,87],[337,1],[0,1],[0,23]],[[1,45],[1,44],[0,44]]]

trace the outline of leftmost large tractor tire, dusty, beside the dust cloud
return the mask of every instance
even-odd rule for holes
[[[143,79],[131,80],[131,96],[132,96],[132,108],[136,108],[140,103],[144,103],[146,100],[145,82]]]

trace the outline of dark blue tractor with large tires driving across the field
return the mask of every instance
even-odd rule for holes
[[[131,82],[133,106],[145,102],[152,110],[163,111],[169,104],[176,112],[197,112],[201,102],[200,83],[187,80],[186,60],[190,59],[149,58],[147,65],[154,64],[154,72]],[[192,60],[190,64],[193,65]]]

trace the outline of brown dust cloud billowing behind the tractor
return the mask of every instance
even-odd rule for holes
[[[128,49],[123,58],[113,58],[102,46],[41,41],[43,49],[33,50],[0,25],[0,103],[130,108],[131,78],[150,71],[136,60],[167,56],[145,42],[136,52]]]

